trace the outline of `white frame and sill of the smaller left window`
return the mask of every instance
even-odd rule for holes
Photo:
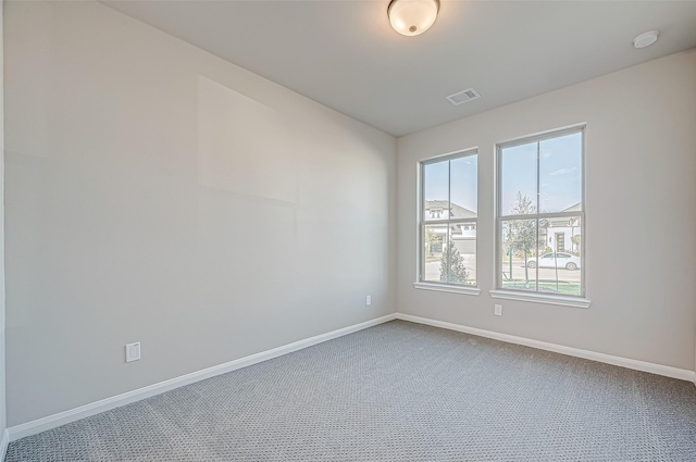
[[[468,157],[476,155],[476,217],[475,218],[445,218],[445,220],[425,220],[425,166],[439,162],[452,161],[457,159],[463,159]],[[417,270],[415,270],[415,283],[413,286],[417,289],[437,290],[455,294],[478,295],[481,289],[478,288],[478,147],[468,148],[455,152],[449,152],[443,155],[436,155],[418,162],[418,214],[417,214]],[[451,204],[451,168],[449,170],[449,187],[447,191],[447,201]],[[431,225],[463,225],[467,223],[473,223],[476,230],[476,284],[455,284],[444,283],[437,280],[425,280],[425,227]]]

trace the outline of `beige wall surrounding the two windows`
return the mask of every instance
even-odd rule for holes
[[[495,143],[579,123],[587,124],[584,263],[593,304],[502,300],[504,315],[494,316]],[[482,294],[414,289],[418,161],[473,147]],[[399,138],[397,151],[400,312],[694,369],[696,50]]]

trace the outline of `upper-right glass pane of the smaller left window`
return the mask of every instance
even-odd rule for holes
[[[450,161],[451,217],[452,220],[475,218],[478,210],[478,157]]]

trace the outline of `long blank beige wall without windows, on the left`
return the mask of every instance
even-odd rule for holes
[[[98,3],[5,16],[9,425],[395,311],[391,136]]]

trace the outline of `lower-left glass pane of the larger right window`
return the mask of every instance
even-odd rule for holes
[[[500,223],[500,282],[504,289],[536,290],[537,221]]]

